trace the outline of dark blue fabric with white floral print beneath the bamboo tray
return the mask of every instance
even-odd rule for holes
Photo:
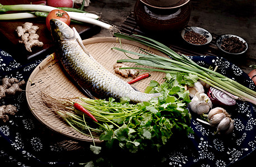
[[[218,66],[217,72],[256,90],[248,75],[224,58],[191,58],[207,68]],[[41,61],[21,66],[0,50],[0,78],[16,77],[27,81]],[[103,151],[99,155],[89,150],[89,143],[73,141],[42,125],[29,110],[25,91],[0,100],[0,106],[8,104],[18,109],[10,120],[0,121],[0,161],[10,166],[227,166],[256,148],[255,106],[244,101],[237,101],[235,107],[226,109],[235,126],[230,135],[214,135],[216,129],[198,122],[197,116],[192,114],[191,127],[195,133],[178,136],[160,152],[131,154],[102,144]]]

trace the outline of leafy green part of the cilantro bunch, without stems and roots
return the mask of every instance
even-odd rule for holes
[[[118,143],[121,148],[136,153],[146,148],[159,149],[177,132],[192,132],[187,109],[191,100],[185,85],[192,85],[197,76],[167,73],[165,79],[163,84],[151,81],[146,88],[147,92],[160,92],[162,96],[135,105],[140,112],[125,117],[121,127],[106,130],[99,139],[105,140],[108,146]]]

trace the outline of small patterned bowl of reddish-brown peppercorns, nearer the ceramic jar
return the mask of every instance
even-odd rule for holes
[[[183,40],[191,45],[202,46],[212,41],[212,35],[201,27],[186,27],[182,30]]]

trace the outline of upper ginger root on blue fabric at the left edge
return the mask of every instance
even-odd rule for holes
[[[0,85],[0,99],[6,95],[15,95],[16,92],[21,92],[21,86],[24,84],[24,80],[19,82],[17,78],[3,78],[2,85]]]

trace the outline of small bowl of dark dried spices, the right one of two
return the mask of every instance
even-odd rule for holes
[[[230,55],[240,55],[248,49],[247,42],[236,35],[221,35],[216,38],[217,47]]]

